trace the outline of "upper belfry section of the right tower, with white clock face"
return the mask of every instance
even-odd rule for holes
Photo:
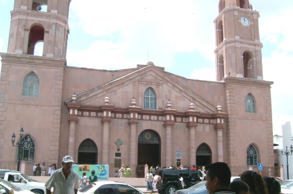
[[[263,80],[258,18],[248,0],[219,1],[214,20],[217,81],[227,76]]]

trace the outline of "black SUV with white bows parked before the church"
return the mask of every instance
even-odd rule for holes
[[[156,188],[159,194],[175,194],[178,189],[183,189],[179,178],[183,178],[184,188],[189,188],[200,182],[202,173],[198,170],[190,169],[164,169],[160,170],[161,180],[157,183]]]

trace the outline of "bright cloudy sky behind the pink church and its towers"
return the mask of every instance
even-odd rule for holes
[[[13,0],[0,0],[0,51],[7,52]],[[250,0],[259,11],[263,79],[271,86],[273,134],[293,121],[292,0]],[[219,0],[72,0],[67,66],[117,70],[152,61],[190,79],[216,80]]]

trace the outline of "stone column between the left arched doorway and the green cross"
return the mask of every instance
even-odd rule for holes
[[[105,104],[101,105],[103,111],[103,148],[102,148],[102,164],[109,163],[109,133],[111,123],[111,111],[114,109],[114,105],[109,104],[110,98],[106,96],[104,98]]]

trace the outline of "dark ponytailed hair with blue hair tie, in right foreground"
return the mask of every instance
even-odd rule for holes
[[[249,186],[249,191],[258,194],[268,194],[265,181],[260,174],[255,171],[247,170],[241,174],[241,181],[244,181]]]

